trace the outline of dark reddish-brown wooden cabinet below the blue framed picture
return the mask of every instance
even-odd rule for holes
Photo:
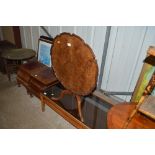
[[[31,96],[40,98],[40,93],[58,83],[52,68],[34,61],[23,64],[17,72],[18,86],[22,84]]]

